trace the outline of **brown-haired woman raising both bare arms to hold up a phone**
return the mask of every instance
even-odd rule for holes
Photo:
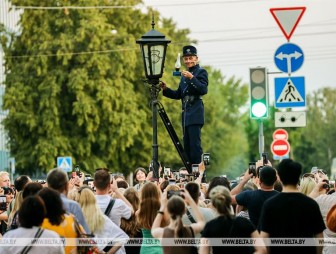
[[[169,242],[165,242],[165,238],[194,238],[195,234],[200,233],[204,228],[204,217],[187,190],[180,190],[177,192],[175,191],[168,201],[167,194],[169,194],[169,192],[165,191],[161,197],[161,207],[157,212],[152,226],[152,235],[157,239],[162,239],[162,248],[164,254],[191,254],[193,251],[195,251],[195,247],[171,246]],[[186,212],[185,202],[190,205],[190,208],[192,209],[196,219],[195,223],[192,223],[188,226],[184,226],[182,223],[182,216]],[[167,227],[161,227],[162,217],[165,209],[167,209],[170,215],[170,222]]]

